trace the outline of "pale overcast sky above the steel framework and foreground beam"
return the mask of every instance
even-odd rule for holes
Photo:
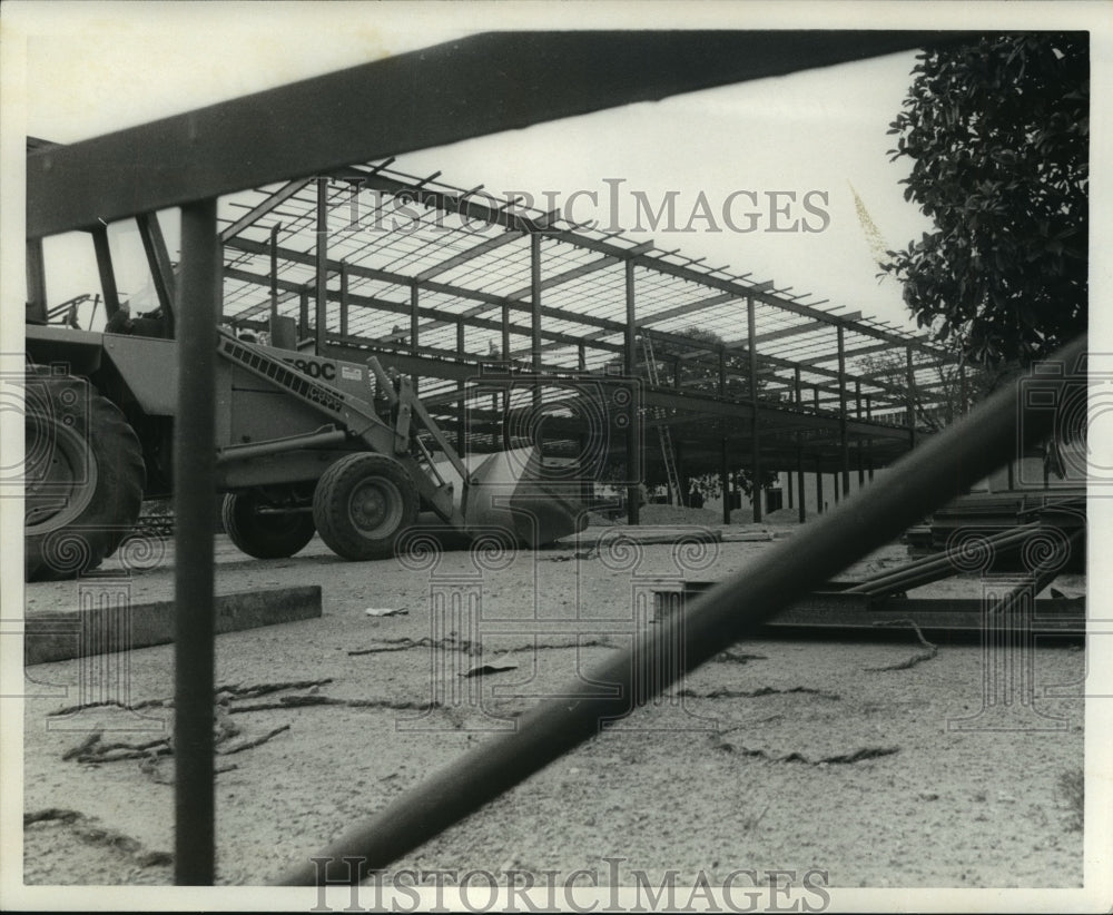
[[[641,4],[637,14],[629,4],[609,3],[268,3],[265,13],[240,3],[6,6],[29,32],[26,130],[62,142],[493,28],[945,24],[908,12],[894,18],[884,3],[865,4],[874,12],[869,22],[847,20],[845,9],[830,3],[792,7],[795,17],[779,6],[772,18],[767,6],[752,3],[684,4],[683,14],[669,3]],[[979,23],[971,13],[951,24],[993,21]],[[809,302],[828,299],[824,307],[840,305],[912,329],[899,286],[878,279],[851,187],[886,247],[903,247],[929,227],[903,199],[898,181],[907,161],[889,163],[886,155],[894,139],[886,129],[914,62],[912,53],[894,55],[600,111],[406,155],[396,167],[441,171],[450,184],[483,184],[495,194],[530,191],[539,203],[549,193],[558,206],[574,191],[594,193],[598,206],[590,196],[577,199],[572,215],[581,220],[611,220],[607,201],[615,188],[619,224],[638,240],[651,237],[712,266],[729,264],[752,279],[810,293]],[[654,209],[674,191],[671,230],[663,224],[632,230],[634,191]],[[787,194],[770,196],[775,191]],[[802,208],[806,196],[810,211]],[[725,207],[735,228],[752,230],[735,230]],[[693,209],[700,215],[690,220]],[[770,230],[794,224],[801,230]],[[176,233],[168,229],[173,247]],[[125,293],[138,291],[139,266],[120,265]],[[90,269],[48,274],[51,299],[86,291]]]

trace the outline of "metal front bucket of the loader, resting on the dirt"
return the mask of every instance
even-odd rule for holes
[[[519,543],[540,547],[582,531],[584,506],[571,498],[573,483],[543,479],[535,447],[501,451],[472,472],[464,530],[499,528]]]

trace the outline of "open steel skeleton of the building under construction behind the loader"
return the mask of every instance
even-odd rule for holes
[[[546,453],[579,454],[591,429],[578,392],[618,374],[643,385],[646,429],[668,424],[681,476],[840,473],[846,494],[851,470],[914,445],[918,415],[955,387],[940,377],[958,374],[954,356],[923,336],[392,164],[221,200],[224,318],[266,331],[287,317],[319,354],[416,376],[462,452],[503,447],[506,417],[540,410]],[[684,335],[697,326],[722,342]],[[879,354],[896,355],[900,384],[878,377]],[[532,383],[491,381],[513,373]],[[623,459],[621,436],[609,447]],[[640,456],[644,471],[663,460]]]

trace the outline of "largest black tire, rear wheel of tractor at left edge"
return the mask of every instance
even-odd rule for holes
[[[142,505],[142,449],[124,414],[83,378],[36,368],[24,400],[24,575],[96,569]]]

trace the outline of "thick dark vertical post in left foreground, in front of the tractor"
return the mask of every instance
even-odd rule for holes
[[[220,249],[216,200],[181,207],[175,509],[175,883],[211,885],[213,501],[216,466],[216,322]]]

